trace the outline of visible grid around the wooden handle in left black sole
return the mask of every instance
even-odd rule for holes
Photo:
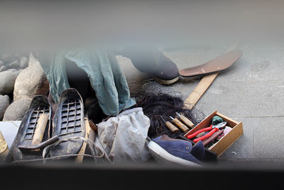
[[[33,139],[33,134],[35,134],[35,128],[36,125],[38,124],[38,118],[40,117],[41,114],[43,113],[48,113],[49,114],[50,110],[48,107],[37,107],[33,111],[31,115],[30,122],[28,122],[28,128],[26,130],[26,134],[23,139],[29,140]]]

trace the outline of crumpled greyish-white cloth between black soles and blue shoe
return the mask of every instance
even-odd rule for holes
[[[97,124],[99,140],[114,163],[145,162],[151,157],[146,144],[149,127],[150,119],[141,107]]]

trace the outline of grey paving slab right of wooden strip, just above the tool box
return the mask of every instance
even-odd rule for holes
[[[207,114],[218,110],[229,117],[283,116],[283,93],[281,80],[226,83],[218,76],[197,107]]]

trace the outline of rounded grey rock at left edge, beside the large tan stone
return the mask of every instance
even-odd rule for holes
[[[0,73],[0,94],[9,95],[13,93],[17,75],[11,70],[6,70]]]

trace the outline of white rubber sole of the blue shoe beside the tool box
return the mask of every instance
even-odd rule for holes
[[[160,163],[182,164],[188,167],[203,167],[202,165],[195,162],[190,162],[186,159],[175,157],[173,154],[168,153],[165,149],[160,147],[159,144],[153,141],[148,143],[148,149],[154,159]]]

